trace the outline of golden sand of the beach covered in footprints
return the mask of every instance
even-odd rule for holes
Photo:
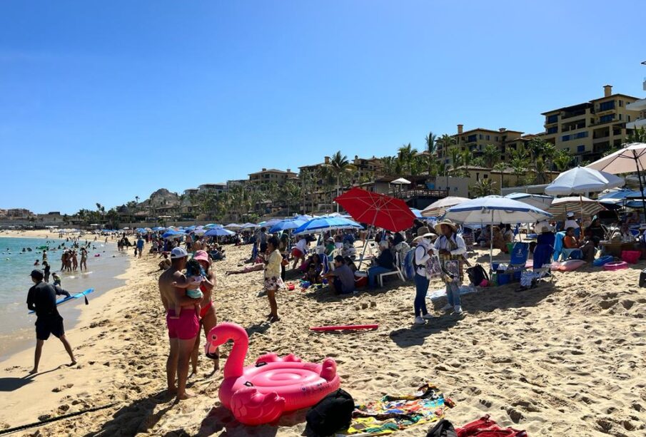
[[[441,314],[413,327],[412,283],[390,279],[380,292],[333,297],[326,289],[278,294],[281,322],[266,324],[262,273],[225,277],[248,256],[228,247],[216,262],[218,322],[246,327],[246,363],[268,351],[308,361],[332,356],[341,387],[357,402],[412,393],[433,382],[456,406],[447,418],[463,425],[484,414],[530,436],[643,436],[646,428],[646,289],[637,287],[640,262],[604,272],[583,267],[557,273],[552,285],[515,292],[516,285],[463,297],[462,318]],[[471,260],[485,262],[484,252]],[[208,376],[203,355],[189,380],[196,397],[175,403],[164,393],[168,351],[158,297],[157,259],[133,259],[126,285],[94,299],[68,332],[79,364],[66,367],[61,344],[46,342],[42,373],[25,379],[33,351],[1,365],[5,391],[0,428],[20,426],[114,404],[17,435],[39,436],[298,436],[305,412],[276,425],[250,428],[218,402],[221,374]],[[432,282],[430,290],[441,287]],[[380,325],[376,331],[318,334],[311,326]],[[202,339],[203,341],[203,339]],[[230,344],[223,346],[223,357]],[[397,433],[424,435],[428,426]]]

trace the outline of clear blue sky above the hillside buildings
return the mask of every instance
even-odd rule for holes
[[[643,6],[4,0],[0,207],[112,207],[458,123],[540,132],[606,83],[645,95]]]

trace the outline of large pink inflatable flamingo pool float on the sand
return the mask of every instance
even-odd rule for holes
[[[284,358],[266,354],[253,366],[243,367],[249,337],[234,323],[218,324],[208,332],[207,356],[229,340],[233,340],[233,348],[224,365],[219,396],[222,405],[241,423],[273,422],[283,412],[313,406],[339,387],[336,363],[331,358],[314,364],[303,363],[292,354]]]

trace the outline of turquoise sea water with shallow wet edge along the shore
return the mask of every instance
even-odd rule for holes
[[[100,237],[99,237],[100,238]],[[94,235],[88,235],[89,241],[93,242]],[[84,237],[81,242],[84,242]],[[71,242],[66,240],[43,239],[43,238],[9,238],[0,237],[0,361],[9,354],[21,349],[31,347],[35,343],[34,322],[35,314],[27,314],[27,292],[33,285],[29,274],[34,268],[34,262],[39,260],[42,263],[42,250],[38,247],[49,246],[47,258],[51,266],[51,272],[57,272],[61,277],[61,286],[71,294],[82,292],[85,289],[94,288],[95,291],[89,294],[89,305],[84,304],[83,299],[75,299],[66,302],[59,307],[59,313],[65,319],[65,329],[71,329],[76,324],[81,311],[99,313],[100,307],[92,305],[92,300],[102,292],[123,285],[122,279],[116,277],[122,274],[128,266],[128,255],[131,252],[118,252],[116,242],[108,240],[104,242],[99,239],[93,242],[93,247],[88,251],[88,270],[82,273],[61,272],[61,254],[63,249],[59,245],[65,244],[71,247]],[[31,248],[31,252],[22,252],[23,248]],[[99,255],[99,256],[96,256]],[[79,256],[79,261],[81,257]],[[50,282],[52,279],[50,278]],[[60,298],[60,297],[59,297]],[[51,340],[51,337],[50,337]],[[74,346],[74,345],[73,345]]]

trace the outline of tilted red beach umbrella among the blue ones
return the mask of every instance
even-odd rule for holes
[[[415,215],[403,200],[354,187],[334,200],[357,222],[399,232],[413,226]]]

